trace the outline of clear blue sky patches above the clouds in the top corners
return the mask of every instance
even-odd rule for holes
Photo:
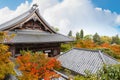
[[[21,3],[32,0],[0,0],[0,8],[8,6],[10,9],[15,10]],[[59,0],[60,2],[63,0]],[[95,7],[109,9],[112,12],[120,13],[120,0],[92,0]]]

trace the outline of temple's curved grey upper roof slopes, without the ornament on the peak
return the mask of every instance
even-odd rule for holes
[[[41,22],[46,25],[50,30],[52,30],[54,33],[54,29],[53,27],[51,27],[46,21],[45,19],[40,15],[39,13],[39,9],[38,8],[31,8],[29,10],[27,10],[26,12],[22,13],[21,15],[11,19],[10,21],[7,21],[3,24],[0,24],[0,31],[4,31],[8,28],[14,27],[22,22],[27,22],[28,20],[30,20],[33,14],[37,14],[37,16],[39,17],[39,19],[41,20]]]

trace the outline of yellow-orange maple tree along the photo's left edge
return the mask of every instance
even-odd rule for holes
[[[9,74],[15,74],[14,63],[10,60],[11,53],[9,47],[4,45],[4,41],[10,40],[6,32],[0,32],[0,80],[5,79]]]

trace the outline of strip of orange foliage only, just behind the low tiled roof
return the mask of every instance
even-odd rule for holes
[[[96,45],[92,40],[79,40],[77,41],[75,47],[77,48],[88,48],[88,49],[110,49],[114,56],[119,57],[120,55],[120,45],[109,43],[103,43],[101,45]]]

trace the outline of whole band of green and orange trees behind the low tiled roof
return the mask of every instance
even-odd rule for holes
[[[74,38],[75,41],[69,44],[62,44],[63,52],[73,47],[87,48],[101,50],[116,59],[120,59],[120,38],[118,35],[112,37],[100,36],[98,33],[84,35],[84,31],[81,29],[80,32],[76,32],[76,36],[73,36],[72,31],[69,31],[68,36]]]

